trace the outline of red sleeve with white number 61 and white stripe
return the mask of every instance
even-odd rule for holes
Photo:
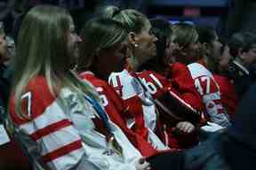
[[[187,120],[188,119],[187,113],[191,111],[190,109],[188,109],[188,107],[190,107],[190,106],[191,106],[191,109],[196,110],[196,112],[202,111],[199,106],[197,106],[197,105],[195,106],[195,104],[198,104],[198,103],[200,104],[200,101],[196,103],[195,100],[197,100],[197,98],[193,94],[193,92],[195,92],[195,94],[197,95],[197,91],[193,91],[193,89],[188,89],[187,86],[180,83],[180,85],[182,85],[181,88],[183,88],[183,89],[181,89],[180,86],[177,86],[177,84],[175,84],[175,83],[172,84],[172,81],[167,79],[167,77],[165,77],[164,75],[155,73],[152,71],[144,71],[142,73],[138,73],[138,75],[140,76],[141,82],[144,84],[145,88],[152,95],[152,97],[154,99],[157,99],[158,102],[160,102],[161,104],[164,104],[164,106],[166,108],[169,108],[169,110],[171,110],[172,112],[177,113],[177,115],[181,116],[181,114],[184,113],[183,116],[186,115],[184,118],[186,118],[186,120]],[[186,81],[184,83],[186,83]],[[193,85],[194,85],[194,83],[193,83]],[[181,89],[181,91],[180,91],[180,89]],[[187,105],[187,107],[183,107],[181,105],[183,105],[183,106]],[[160,110],[162,110],[161,106],[160,106],[160,108],[161,108]],[[186,109],[187,112],[185,110],[183,110],[185,108],[188,109],[188,110]],[[189,115],[192,115],[190,113],[189,113]],[[183,116],[181,116],[181,117],[183,117]],[[196,114],[195,119],[193,116],[193,119],[191,119],[191,117],[189,117],[188,120],[191,120],[191,121],[193,120],[193,122],[198,122],[198,114]]]

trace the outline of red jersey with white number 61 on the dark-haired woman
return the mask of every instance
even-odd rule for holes
[[[155,100],[158,100],[165,108],[169,109],[174,115],[181,118],[178,120],[173,119],[173,116],[166,116],[166,112],[163,112],[161,109],[163,106],[158,107],[159,111],[163,112],[165,115],[160,117],[161,123],[169,125],[164,130],[165,143],[168,138],[169,145],[172,148],[179,149],[188,148],[196,144],[197,139],[195,133],[177,134],[175,131],[175,126],[180,121],[190,121],[197,125],[201,119],[200,113],[204,112],[204,104],[202,103],[200,95],[196,91],[194,81],[188,71],[188,67],[180,63],[175,63],[166,69],[166,73],[164,73],[164,75],[153,71],[143,71],[141,73],[137,73],[137,75],[140,77],[140,81],[144,84],[145,88]],[[159,106],[159,104],[156,105]],[[184,106],[188,109],[179,109],[179,107]]]

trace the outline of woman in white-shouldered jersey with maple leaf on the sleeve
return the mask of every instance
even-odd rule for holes
[[[173,57],[188,66],[190,75],[194,80],[197,91],[201,95],[205,114],[204,119],[221,127],[228,127],[227,112],[221,104],[220,86],[214,80],[212,73],[200,63],[203,45],[200,44],[196,26],[188,23],[177,23],[172,26],[173,42],[178,43],[179,48],[174,50]],[[207,123],[210,126],[209,123]],[[215,128],[213,128],[215,129]]]

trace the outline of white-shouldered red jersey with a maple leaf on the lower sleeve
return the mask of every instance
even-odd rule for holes
[[[221,104],[220,87],[212,73],[199,63],[188,65],[195,86],[203,98],[206,119],[222,127],[228,127],[228,114]]]

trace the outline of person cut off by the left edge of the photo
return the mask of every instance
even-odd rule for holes
[[[6,130],[7,105],[11,90],[11,78],[8,76],[12,44],[5,35],[4,23],[0,22],[0,169],[30,169],[28,158]]]

